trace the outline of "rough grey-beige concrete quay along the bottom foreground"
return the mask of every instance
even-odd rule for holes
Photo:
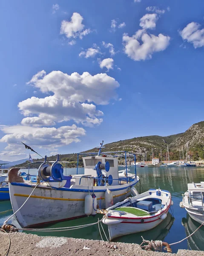
[[[11,247],[8,255],[20,256],[167,256],[167,253],[147,252],[138,244],[114,243],[98,240],[73,239],[54,236],[37,236],[26,233],[9,233]],[[0,256],[6,253],[9,238],[0,232]],[[203,251],[178,250],[172,256],[204,256]]]

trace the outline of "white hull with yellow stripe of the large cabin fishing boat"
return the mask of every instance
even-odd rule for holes
[[[108,186],[113,195],[113,204],[123,201],[130,195],[130,188],[138,183],[139,178],[130,183]],[[30,182],[9,183],[9,192],[13,211],[16,212],[26,201],[36,184]],[[95,193],[97,203],[105,209],[106,186],[74,186],[74,188],[51,188],[38,185],[26,204],[16,213],[21,227],[65,221],[86,216],[84,213],[85,196]]]

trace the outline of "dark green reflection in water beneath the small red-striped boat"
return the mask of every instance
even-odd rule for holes
[[[161,240],[164,241],[164,238],[167,236],[167,234],[170,231],[170,228],[172,227],[172,224],[174,222],[175,218],[172,217],[170,212],[167,214],[167,218],[165,218],[164,221],[161,222],[157,227],[153,228],[152,230],[147,230],[144,232],[136,233],[136,234],[130,234],[126,236],[122,236],[120,238],[114,239],[114,241],[120,241],[124,243],[136,243],[141,244],[142,238],[144,237],[145,240]]]

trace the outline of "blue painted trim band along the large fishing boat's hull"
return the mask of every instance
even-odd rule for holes
[[[126,187],[124,187],[124,188],[118,188],[118,189],[111,189],[110,188],[110,186],[109,186],[109,190],[110,191],[118,191],[118,190],[124,190],[124,189],[127,189],[128,187],[130,187],[130,186],[135,186],[135,184],[137,184],[138,183],[138,181],[139,181],[139,179],[138,180],[135,180],[135,182],[134,183],[132,183],[132,184],[130,184],[130,183],[128,183],[128,186],[126,186]],[[11,182],[11,185],[13,185],[13,186],[25,186],[25,187],[33,187],[32,185],[29,185],[29,184],[25,184],[25,183],[17,183],[17,182]],[[118,185],[118,186],[120,186],[120,185]],[[38,188],[40,188],[40,187],[38,187]],[[45,187],[45,188],[43,188],[43,189],[50,189],[49,187]],[[89,192],[89,191],[92,191],[92,189],[69,189],[69,188],[52,188],[52,189],[55,189],[55,190],[61,190],[61,191],[70,191],[70,192]],[[106,187],[104,187],[104,189],[102,190],[99,190],[99,189],[97,189],[97,190],[95,190],[94,189],[94,192],[106,192]]]

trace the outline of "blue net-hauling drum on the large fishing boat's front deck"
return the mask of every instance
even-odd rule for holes
[[[49,163],[46,163],[47,156],[45,156],[44,162],[40,165],[38,169],[38,176],[40,177],[41,180],[45,182],[53,183],[53,185],[54,183],[59,183],[59,182],[62,183],[64,180],[66,180],[66,182],[63,182],[64,187],[70,187],[70,180],[72,176],[63,175],[63,166],[60,163],[58,163],[58,160],[59,160],[59,155],[57,154],[57,160],[51,166]],[[52,184],[50,185],[52,186]]]

